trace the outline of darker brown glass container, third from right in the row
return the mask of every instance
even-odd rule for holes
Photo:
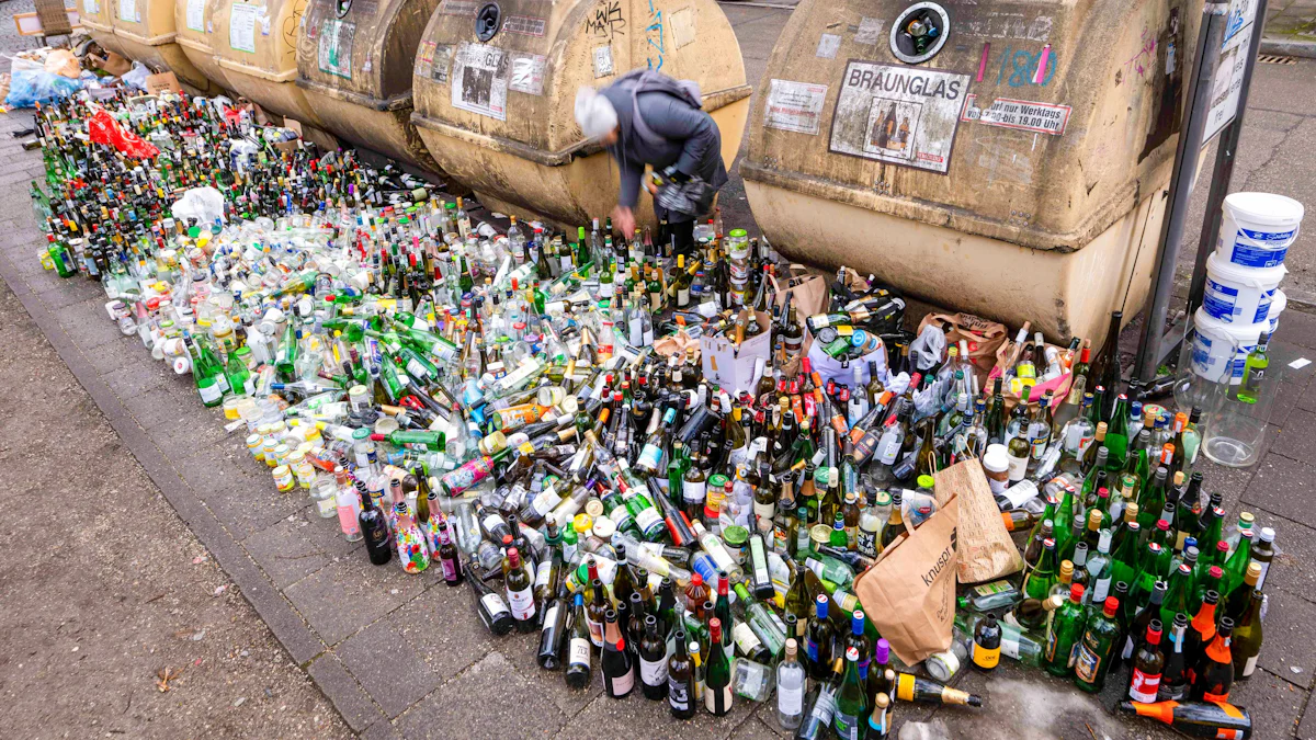
[[[297,87],[334,134],[438,170],[411,124],[412,65],[437,0],[309,0]]]

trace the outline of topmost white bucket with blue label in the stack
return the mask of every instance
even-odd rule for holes
[[[1270,192],[1232,192],[1223,208],[1216,254],[1240,267],[1284,263],[1303,223],[1302,203]]]

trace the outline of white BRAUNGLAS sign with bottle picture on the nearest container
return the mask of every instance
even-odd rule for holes
[[[945,172],[969,75],[851,61],[845,67],[829,149]]]

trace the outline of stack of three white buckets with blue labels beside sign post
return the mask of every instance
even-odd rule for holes
[[[1303,204],[1269,192],[1225,196],[1207,286],[1194,316],[1192,371],[1211,382],[1238,383],[1262,332],[1273,334],[1288,299],[1279,290],[1284,257],[1298,238]]]

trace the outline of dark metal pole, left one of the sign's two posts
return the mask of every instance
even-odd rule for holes
[[[1207,124],[1207,107],[1211,103],[1211,88],[1215,78],[1216,59],[1220,57],[1220,40],[1229,4],[1207,3],[1202,11],[1202,30],[1198,32],[1198,54],[1192,65],[1192,84],[1188,87],[1188,100],[1184,109],[1188,116],[1179,130],[1179,145],[1174,154],[1174,171],[1170,175],[1169,205],[1161,223],[1161,238],[1155,270],[1152,275],[1153,298],[1142,323],[1142,338],[1138,342],[1138,356],[1133,366],[1133,377],[1149,381],[1155,377],[1161,356],[1161,333],[1165,330],[1165,317],[1170,309],[1170,292],[1174,290],[1174,267],[1179,259],[1179,242],[1183,241],[1183,223],[1188,215],[1188,196],[1192,195],[1192,180],[1198,172],[1198,154],[1202,150],[1202,132]],[[1149,205],[1149,207],[1154,207]]]

